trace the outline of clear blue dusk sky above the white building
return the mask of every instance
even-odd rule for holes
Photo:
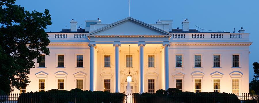
[[[28,11],[49,9],[52,25],[45,30],[47,32],[61,31],[66,25],[70,28],[72,18],[84,27],[85,20],[100,18],[102,23],[113,23],[128,17],[128,0],[17,0],[16,4]],[[145,23],[173,20],[173,28],[182,28],[184,18],[189,19],[190,28],[197,25],[202,29],[229,32],[235,28],[237,32],[243,27],[253,42],[249,47],[251,81],[252,64],[259,62],[258,4],[259,0],[130,0],[130,16]]]

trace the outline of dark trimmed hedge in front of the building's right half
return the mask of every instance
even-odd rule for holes
[[[133,94],[136,102],[140,103],[228,103],[240,102],[235,94],[219,93],[219,92],[182,92],[176,88],[168,88],[167,90],[157,90],[155,94],[138,93]]]

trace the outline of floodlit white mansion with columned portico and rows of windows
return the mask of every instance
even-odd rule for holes
[[[50,89],[133,93],[178,88],[190,92],[248,93],[249,33],[172,29],[172,20],[155,24],[127,17],[111,24],[86,20],[85,29],[47,32],[50,55],[35,63],[27,87],[14,92]],[[35,60],[36,62],[36,60]]]

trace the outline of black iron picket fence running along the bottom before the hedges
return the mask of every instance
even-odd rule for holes
[[[23,95],[23,94],[22,94]],[[177,96],[142,96],[140,94],[125,94],[124,98],[117,96],[78,96],[63,95],[23,95],[10,94],[0,96],[0,103],[258,103],[258,95],[235,94],[234,96],[177,95]]]

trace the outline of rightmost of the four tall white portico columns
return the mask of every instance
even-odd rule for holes
[[[169,43],[164,43],[165,50],[165,90],[169,88],[169,56],[168,56],[168,47],[170,47]]]

